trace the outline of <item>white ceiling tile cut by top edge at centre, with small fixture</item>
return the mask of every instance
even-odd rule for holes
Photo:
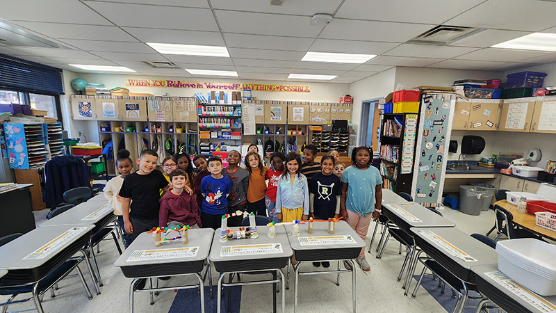
[[[215,9],[306,16],[313,16],[317,13],[332,14],[341,2],[342,0],[286,0],[281,6],[271,6],[269,1],[265,0],[211,0],[211,4]]]

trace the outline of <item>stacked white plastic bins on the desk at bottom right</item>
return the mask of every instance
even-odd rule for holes
[[[556,246],[537,239],[498,241],[498,269],[541,296],[556,295]]]

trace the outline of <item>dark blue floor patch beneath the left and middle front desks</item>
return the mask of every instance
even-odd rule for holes
[[[213,286],[214,298],[211,299],[211,290],[208,286],[204,287],[204,312],[216,312],[216,286]],[[228,289],[231,288],[231,303],[229,312],[239,313],[241,307],[241,286],[225,287],[222,291],[222,312],[226,312],[228,303]],[[201,312],[201,295],[197,292],[197,288],[193,289],[180,289],[178,290],[174,302],[168,313],[181,313],[181,312]]]

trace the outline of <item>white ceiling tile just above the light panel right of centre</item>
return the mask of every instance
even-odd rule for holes
[[[373,42],[355,40],[317,39],[309,51],[337,52],[343,54],[384,54],[399,44],[393,42]]]

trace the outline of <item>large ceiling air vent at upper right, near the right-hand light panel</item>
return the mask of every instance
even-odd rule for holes
[[[439,25],[409,40],[407,43],[420,45],[450,45],[470,35],[484,31],[473,27]]]

